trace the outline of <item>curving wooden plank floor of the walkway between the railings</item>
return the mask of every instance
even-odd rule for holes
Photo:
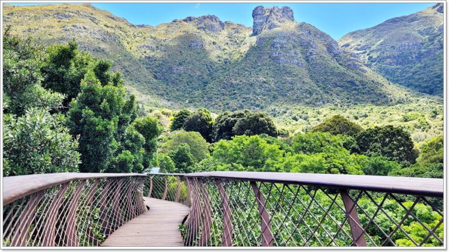
[[[179,225],[189,208],[176,202],[144,197],[149,210],[124,223],[102,246],[113,247],[179,247],[184,246]]]

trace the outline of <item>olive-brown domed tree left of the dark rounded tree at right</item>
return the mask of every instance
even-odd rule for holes
[[[363,128],[360,125],[353,123],[340,115],[333,116],[312,128],[312,132],[329,132],[333,135],[355,135],[362,130]]]

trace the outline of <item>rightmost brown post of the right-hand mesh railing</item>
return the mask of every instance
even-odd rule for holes
[[[351,197],[347,194],[346,190],[340,190],[341,199],[343,200],[344,209],[346,210],[346,217],[351,227],[351,233],[353,236],[353,243],[356,246],[366,246],[365,236],[363,235],[363,229],[361,228],[359,216],[356,211],[356,204]]]

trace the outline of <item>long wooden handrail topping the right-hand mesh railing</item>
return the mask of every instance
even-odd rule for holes
[[[301,184],[337,189],[357,189],[441,198],[444,193],[443,179],[430,178],[272,172],[204,172],[190,173],[185,176]]]

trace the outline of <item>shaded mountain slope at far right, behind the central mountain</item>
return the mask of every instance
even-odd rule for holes
[[[338,40],[388,80],[443,95],[443,4],[351,32]]]

